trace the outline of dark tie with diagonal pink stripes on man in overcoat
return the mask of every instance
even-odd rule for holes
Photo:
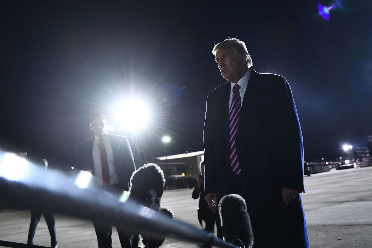
[[[232,88],[232,100],[229,114],[229,123],[230,123],[230,165],[232,171],[237,175],[240,174],[240,165],[238,154],[236,152],[235,141],[238,131],[239,119],[240,119],[240,86],[236,83],[234,88]]]

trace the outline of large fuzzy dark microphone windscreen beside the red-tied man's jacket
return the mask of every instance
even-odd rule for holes
[[[154,163],[148,163],[133,172],[129,198],[145,207],[159,211],[164,184],[163,170]]]

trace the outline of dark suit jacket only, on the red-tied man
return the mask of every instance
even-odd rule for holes
[[[109,134],[114,165],[118,174],[118,186],[128,191],[132,173],[136,170],[133,153],[127,137]],[[75,166],[94,175],[93,163],[94,137],[77,146]]]

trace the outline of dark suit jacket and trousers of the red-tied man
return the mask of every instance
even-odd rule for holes
[[[115,186],[119,189],[128,191],[132,173],[136,170],[131,146],[129,145],[128,139],[125,136],[113,134],[108,134],[108,136],[112,147],[115,169],[119,180]],[[75,165],[77,168],[91,172],[92,175],[94,175],[93,145],[94,137],[78,144]],[[96,229],[99,247],[111,247],[111,226],[97,222],[93,222],[93,225]],[[131,247],[129,236],[126,235],[121,228],[117,227],[117,229],[122,247]],[[102,235],[102,233],[109,233],[109,235],[105,236]]]

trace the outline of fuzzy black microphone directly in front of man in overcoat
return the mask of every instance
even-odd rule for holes
[[[225,241],[242,247],[241,241],[244,247],[253,247],[252,226],[243,197],[237,194],[222,197],[219,201],[219,216]]]

